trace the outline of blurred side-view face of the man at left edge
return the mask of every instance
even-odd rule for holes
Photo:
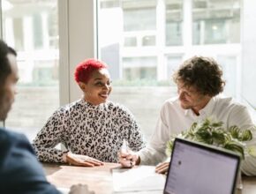
[[[11,66],[11,74],[7,76],[3,85],[0,86],[0,121],[4,121],[11,109],[16,93],[16,83],[19,79],[16,56],[8,54],[7,58]]]

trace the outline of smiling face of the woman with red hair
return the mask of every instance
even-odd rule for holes
[[[87,83],[79,82],[79,86],[85,94],[85,101],[93,105],[104,103],[112,90],[109,71],[105,68],[94,70]]]

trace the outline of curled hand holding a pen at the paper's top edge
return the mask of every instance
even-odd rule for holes
[[[132,168],[140,163],[139,155],[132,150],[118,153],[118,160],[123,168]]]

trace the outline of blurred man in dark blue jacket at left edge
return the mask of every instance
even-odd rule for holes
[[[0,40],[0,121],[11,109],[19,79],[17,53]],[[85,185],[72,186],[71,193],[91,193]],[[27,138],[0,128],[0,193],[60,193],[47,182],[41,164]]]

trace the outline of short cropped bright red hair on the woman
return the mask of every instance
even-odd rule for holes
[[[87,83],[93,71],[107,67],[106,63],[99,60],[93,58],[87,59],[77,65],[74,73],[75,80],[77,83]]]

